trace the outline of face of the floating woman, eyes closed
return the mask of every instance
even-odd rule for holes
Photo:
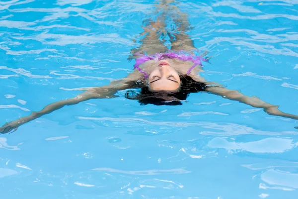
[[[176,70],[166,60],[160,60],[158,66],[149,75],[151,91],[174,91],[180,86]]]

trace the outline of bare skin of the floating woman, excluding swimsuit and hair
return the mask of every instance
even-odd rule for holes
[[[188,21],[186,14],[180,13],[178,8],[174,5],[168,4],[171,0],[163,0],[163,3],[157,4],[157,10],[163,9],[164,12],[172,14],[176,23],[178,33],[170,35],[171,49],[172,50],[193,50],[195,49],[193,41],[185,33],[188,28]],[[163,15],[164,17],[164,15]],[[165,24],[161,21],[162,17],[157,18],[156,22],[151,22],[147,27],[144,27],[143,35],[146,37],[142,40],[142,45],[138,49],[140,52],[146,51],[148,54],[162,53],[167,50],[163,45],[163,41],[159,39],[160,34],[164,33]],[[136,49],[132,50],[136,52]],[[135,58],[135,57],[132,57]],[[0,127],[0,134],[13,132],[20,125],[39,118],[45,114],[49,114],[55,110],[62,108],[65,105],[74,105],[82,101],[90,99],[106,99],[115,98],[115,94],[118,91],[142,88],[148,86],[152,91],[167,90],[173,91],[179,88],[180,79],[179,75],[186,75],[187,71],[193,66],[192,62],[182,62],[177,59],[167,59],[155,62],[150,60],[140,65],[140,68],[149,75],[149,79],[144,79],[144,74],[138,70],[134,70],[127,77],[111,82],[108,86],[94,87],[85,90],[83,93],[77,95],[75,98],[61,100],[51,103],[45,106],[42,110],[32,112],[30,115],[21,117],[17,120],[5,123]],[[228,90],[216,83],[207,82],[203,77],[199,75],[199,72],[204,72],[201,66],[196,66],[188,76],[193,78],[196,82],[205,83],[210,85],[207,87],[207,91],[211,94],[221,96],[225,99],[236,100],[253,107],[263,108],[264,111],[270,115],[282,116],[286,118],[297,119],[297,115],[288,114],[278,109],[277,105],[267,103],[256,97],[245,96],[238,91]],[[216,87],[211,86],[216,85]]]

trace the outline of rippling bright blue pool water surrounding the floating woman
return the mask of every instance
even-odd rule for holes
[[[207,80],[298,115],[297,0],[180,0]],[[126,76],[153,0],[1,0],[0,124]],[[1,199],[297,199],[298,122],[191,94],[67,106],[0,135]]]

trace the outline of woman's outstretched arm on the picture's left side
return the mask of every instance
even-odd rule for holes
[[[84,91],[83,93],[77,95],[74,98],[51,103],[45,106],[40,111],[32,112],[28,116],[21,117],[17,120],[4,124],[2,127],[0,127],[0,134],[8,133],[13,129],[16,130],[20,125],[27,123],[29,121],[32,121],[45,114],[49,114],[55,110],[62,108],[65,105],[74,105],[79,102],[90,100],[90,99],[115,98],[116,96],[114,96],[114,94],[116,94],[117,91],[137,87],[137,85],[134,84],[133,82],[140,79],[141,79],[141,74],[139,72],[133,72],[129,74],[126,78],[113,81],[108,86],[90,88],[90,89],[87,89],[87,91]]]

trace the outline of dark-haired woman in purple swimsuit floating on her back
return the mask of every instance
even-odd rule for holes
[[[256,97],[245,96],[238,91],[228,90],[224,87],[207,82],[200,77],[199,72],[204,72],[202,62],[207,58],[196,56],[193,41],[185,33],[189,24],[186,15],[180,13],[176,6],[164,2],[157,5],[157,11],[161,11],[156,22],[150,22],[142,35],[142,45],[139,49],[132,50],[136,64],[134,70],[127,77],[111,82],[108,86],[88,88],[75,98],[61,100],[45,106],[42,110],[32,112],[29,116],[21,117],[8,122],[0,127],[0,133],[8,133],[17,129],[20,125],[34,120],[42,115],[60,109],[65,105],[77,104],[90,99],[115,98],[115,94],[121,90],[141,88],[141,92],[128,91],[125,98],[138,100],[140,104],[155,105],[180,105],[190,93],[209,92],[222,96],[229,100],[263,108],[270,115],[298,119],[297,115],[288,114]],[[171,15],[177,31],[170,34],[171,49],[168,50],[160,38],[164,34],[164,18]]]

